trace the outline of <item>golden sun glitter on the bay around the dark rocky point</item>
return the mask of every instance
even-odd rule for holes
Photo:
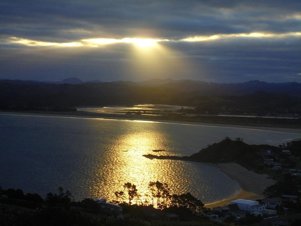
[[[123,184],[130,182],[136,185],[143,202],[147,199],[146,194],[150,194],[148,183],[159,180],[169,184],[172,194],[190,191],[198,198],[203,199],[206,194],[212,193],[210,186],[214,183],[219,183],[217,186],[228,183],[223,179],[214,180],[212,178],[221,177],[216,174],[216,167],[213,165],[143,157],[144,154],[177,155],[172,150],[175,147],[175,141],[170,134],[160,130],[160,126],[162,126],[160,124],[144,123],[143,129],[136,127],[135,123],[130,125],[132,127],[129,128],[128,125],[125,133],[120,133],[114,139],[110,139],[109,144],[105,147],[106,150],[100,145],[95,152],[94,162],[86,172],[89,177],[87,183],[90,184],[89,194],[91,197],[116,200],[114,192],[124,191]],[[123,131],[123,128],[120,127],[120,130]],[[102,139],[100,138],[100,142]],[[165,151],[153,152],[154,149],[164,149]],[[200,167],[202,168],[200,169]],[[211,180],[217,182],[211,182]],[[207,198],[212,201],[216,200],[215,197]]]

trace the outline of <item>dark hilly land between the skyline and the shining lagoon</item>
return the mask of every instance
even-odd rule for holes
[[[76,106],[155,103],[196,106],[193,114],[278,115],[301,113],[301,84],[200,83],[184,80],[152,83],[49,84],[0,80],[0,109],[73,111]]]

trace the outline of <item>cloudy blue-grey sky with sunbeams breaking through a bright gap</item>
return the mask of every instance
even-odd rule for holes
[[[0,1],[0,79],[301,82],[300,1]]]

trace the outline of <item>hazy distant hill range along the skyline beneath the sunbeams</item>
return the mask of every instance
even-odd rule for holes
[[[0,83],[10,84],[82,84],[82,83],[105,83],[100,80],[82,81],[78,78],[66,78],[60,82],[41,82],[23,80],[0,80]],[[174,90],[175,92],[189,93],[193,96],[243,96],[256,92],[285,93],[290,96],[301,97],[301,83],[267,83],[253,80],[244,83],[206,83],[197,80],[173,80],[173,79],[151,79],[143,82],[113,81],[107,82],[125,86],[147,86],[160,87],[162,89]]]

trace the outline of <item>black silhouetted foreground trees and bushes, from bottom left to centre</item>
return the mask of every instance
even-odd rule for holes
[[[92,199],[80,202],[71,201],[70,191],[48,193],[45,200],[38,194],[24,195],[20,189],[2,190],[0,193],[0,222],[1,225],[165,225],[152,220],[160,220],[168,212],[179,215],[182,221],[207,222],[214,225],[206,217],[199,216],[197,211],[206,211],[203,202],[189,192],[181,195],[171,195],[169,186],[159,181],[150,182],[149,188],[153,203],[138,203],[139,194],[136,186],[131,183],[123,185],[124,191],[115,192],[117,200],[123,207],[124,219],[116,218],[118,213],[102,209]],[[126,200],[126,201],[121,201]],[[120,201],[119,201],[120,199]],[[135,200],[135,204],[132,203]],[[156,206],[157,209],[154,209]],[[156,215],[157,217],[153,217]],[[163,218],[165,219],[165,218]]]

